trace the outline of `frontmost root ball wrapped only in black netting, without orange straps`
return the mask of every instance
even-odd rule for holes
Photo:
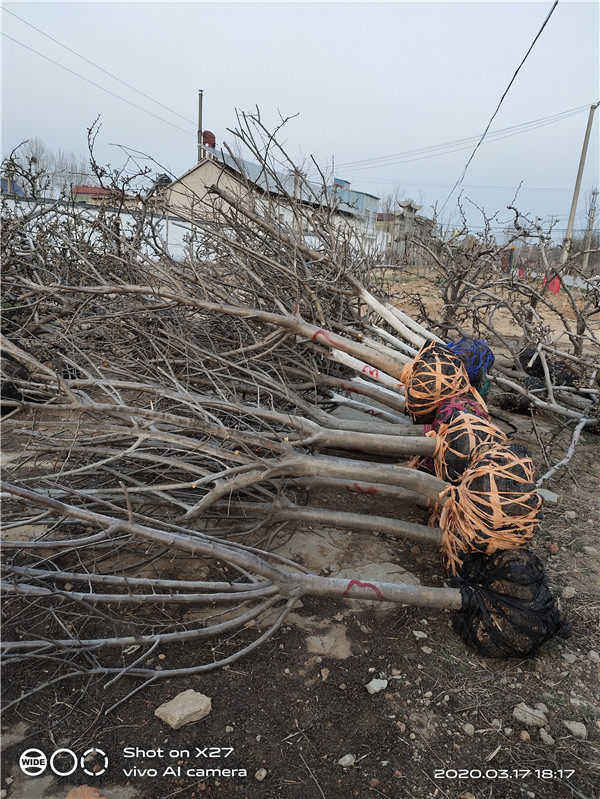
[[[486,657],[531,657],[554,636],[570,635],[542,564],[527,549],[469,553],[452,582],[463,600],[455,628]]]

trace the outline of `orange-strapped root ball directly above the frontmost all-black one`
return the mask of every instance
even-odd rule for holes
[[[532,538],[542,504],[533,461],[518,444],[483,448],[459,485],[449,485],[432,508],[429,524],[443,531],[440,551],[453,574],[461,554],[519,549]]]

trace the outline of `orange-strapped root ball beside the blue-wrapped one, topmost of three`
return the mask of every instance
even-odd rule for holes
[[[448,397],[473,396],[484,408],[485,402],[470,382],[460,358],[444,344],[427,341],[400,376],[406,389],[406,410],[415,419],[427,422]],[[428,418],[429,417],[429,418]]]

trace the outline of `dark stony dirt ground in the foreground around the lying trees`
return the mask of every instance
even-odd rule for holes
[[[513,418],[519,426],[516,440],[527,443],[542,463],[531,421]],[[552,430],[543,417],[536,425],[542,437]],[[555,446],[566,442],[565,434]],[[87,781],[108,799],[600,796],[596,435],[584,434],[569,471],[548,486],[560,499],[558,505],[545,507],[535,551],[556,593],[566,591],[570,597],[561,600],[573,624],[570,640],[551,642],[533,660],[486,660],[466,648],[451,628],[448,613],[304,599],[274,638],[231,668],[156,682],[108,716],[106,708],[135,683],[104,689],[105,680],[87,685],[73,680],[9,710],[4,720],[3,795],[64,799]],[[389,501],[376,504],[371,497],[311,497],[311,503],[319,501],[345,510],[423,518],[420,508],[393,507]],[[548,547],[558,551],[551,554]],[[594,550],[584,552],[583,547]],[[281,551],[324,574],[356,569],[367,577],[383,574],[388,579],[443,584],[436,552],[377,531],[366,535],[299,528]],[[383,573],[371,573],[374,568]],[[250,631],[244,635],[250,640]],[[218,654],[233,651],[241,642],[236,636]],[[205,644],[181,644],[157,651],[152,663],[180,667],[210,656]],[[365,688],[373,678],[388,681],[375,695]],[[84,686],[86,691],[77,690],[72,701],[72,690]],[[25,671],[5,674],[6,699],[26,687]],[[212,712],[173,731],[154,710],[188,688],[211,697]],[[547,707],[544,729],[552,742],[543,740],[537,727],[513,716],[521,702]],[[587,739],[575,738],[565,721],[583,722]],[[233,753],[226,762],[194,757],[195,747],[207,746],[232,747]],[[29,747],[44,752],[68,747],[77,753],[99,747],[109,757],[108,770],[99,777],[52,779],[46,773],[27,778],[18,760]],[[126,758],[125,747],[162,747],[165,757]],[[190,757],[185,752],[169,757],[167,750],[175,749],[189,749]],[[339,764],[345,755],[354,756],[352,765]],[[180,766],[182,776],[161,777],[170,765]],[[124,769],[133,766],[138,773],[126,776]],[[153,767],[159,776],[141,776],[141,770]],[[247,776],[196,771],[215,768],[246,769]],[[186,776],[188,769],[194,776]],[[262,781],[255,777],[259,769],[266,770]]]

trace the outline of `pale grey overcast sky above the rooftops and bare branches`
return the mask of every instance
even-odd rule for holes
[[[117,142],[151,153],[173,173],[196,160],[197,92],[204,128],[231,142],[235,109],[268,121],[298,114],[290,152],[335,159],[352,187],[443,202],[474,142],[390,158],[483,132],[552,3],[4,3],[4,8],[177,111],[182,119],[67,52],[9,13],[3,32],[167,124],[3,37],[3,153],[28,137],[85,152],[102,119],[99,155]],[[518,205],[566,225],[589,105],[599,99],[597,2],[561,0],[496,117],[492,131],[573,111],[484,143],[463,193],[489,213],[523,181]],[[600,108],[598,109],[600,112]],[[598,183],[598,116],[583,179]],[[506,131],[513,133],[513,131]],[[504,136],[505,134],[499,134]],[[493,137],[492,137],[493,138]],[[461,148],[461,149],[459,149]],[[454,152],[449,152],[454,150]],[[449,204],[455,207],[455,202]],[[480,224],[467,203],[469,220]],[[500,222],[498,222],[500,224]]]

